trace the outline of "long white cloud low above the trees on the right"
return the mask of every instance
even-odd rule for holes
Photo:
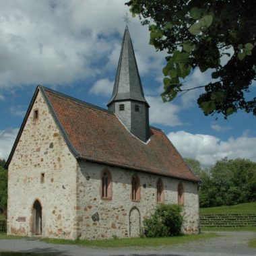
[[[195,158],[202,166],[215,164],[222,158],[246,158],[256,162],[256,137],[244,133],[241,137],[230,137],[226,141],[205,134],[191,134],[186,131],[171,132],[170,141],[183,157]]]

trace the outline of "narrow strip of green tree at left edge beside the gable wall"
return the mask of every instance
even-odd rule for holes
[[[3,168],[5,160],[0,159],[0,212],[6,210],[7,205],[7,170]]]

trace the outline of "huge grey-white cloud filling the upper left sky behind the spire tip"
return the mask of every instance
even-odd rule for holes
[[[125,0],[0,1],[0,9],[0,88],[67,85],[116,70]],[[141,73],[158,72],[162,56],[148,45],[148,27],[131,18],[129,29]]]

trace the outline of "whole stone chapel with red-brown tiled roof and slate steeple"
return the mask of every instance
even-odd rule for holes
[[[139,236],[160,203],[199,232],[199,179],[149,124],[129,29],[108,109],[38,86],[8,168],[7,233],[67,239]]]

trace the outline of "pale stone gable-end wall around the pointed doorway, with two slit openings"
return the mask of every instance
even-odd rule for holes
[[[9,164],[7,233],[32,235],[38,199],[42,236],[76,238],[76,173],[77,162],[39,92]]]

